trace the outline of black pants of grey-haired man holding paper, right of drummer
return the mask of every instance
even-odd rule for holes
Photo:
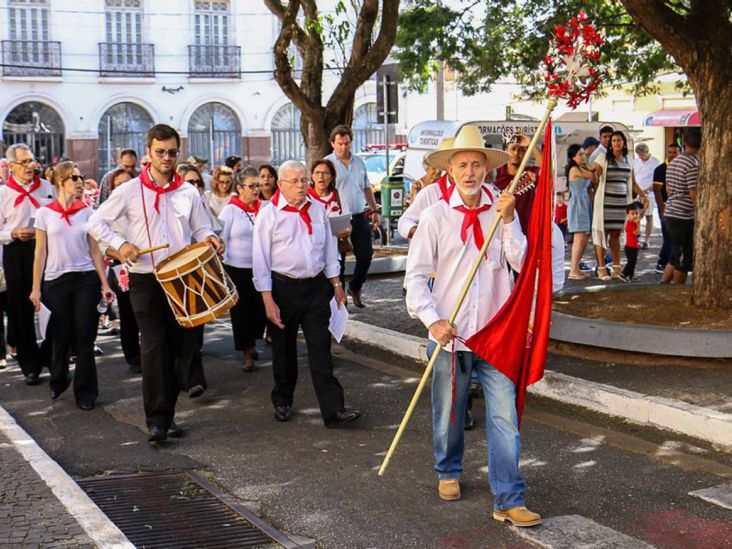
[[[343,387],[333,375],[330,354],[330,300],[333,285],[320,274],[315,278],[294,280],[272,274],[272,297],[280,308],[285,329],[269,324],[272,336],[272,404],[292,406],[297,385],[297,331],[302,326],[308,348],[310,376],[320,404],[323,421],[335,419],[344,407]]]

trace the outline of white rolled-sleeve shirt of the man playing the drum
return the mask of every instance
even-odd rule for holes
[[[89,219],[89,232],[100,243],[115,250],[129,242],[139,249],[168,244],[168,248],[141,255],[130,267],[132,273],[151,273],[153,260],[158,265],[192,241],[201,242],[213,236],[211,220],[203,199],[190,183],[160,195],[160,213],[155,211],[155,191],[148,189],[136,177],[116,188]],[[144,198],[144,200],[143,200]],[[147,211],[147,223],[145,222]],[[118,223],[115,224],[115,221]],[[115,233],[122,227],[124,234]],[[148,236],[149,229],[149,236]]]

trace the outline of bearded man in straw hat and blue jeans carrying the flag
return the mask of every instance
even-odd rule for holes
[[[486,397],[488,472],[494,496],[493,518],[516,526],[534,526],[541,517],[526,509],[526,484],[519,474],[521,439],[516,388],[511,380],[472,353],[463,341],[498,312],[511,293],[513,277],[526,252],[526,237],[515,200],[509,193],[492,195],[483,181],[487,170],[505,164],[509,155],[486,148],[480,131],[465,126],[452,147],[436,151],[428,162],[447,169],[455,185],[425,210],[412,238],[407,259],[407,309],[429,330],[428,354],[443,347],[432,375],[432,433],[438,493],[444,500],[460,499],[464,452],[464,418],[470,376],[477,370]],[[500,216],[496,238],[487,249],[469,287],[465,306],[454,324],[447,320],[483,244],[486,230]],[[436,273],[432,291],[427,287]]]

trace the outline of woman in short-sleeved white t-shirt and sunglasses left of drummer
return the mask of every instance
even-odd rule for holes
[[[99,390],[94,340],[101,297],[111,303],[102,254],[87,232],[92,214],[82,200],[84,176],[73,162],[56,167],[58,199],[36,213],[36,251],[30,300],[38,311],[41,300],[51,311],[51,398],[68,388],[69,349],[76,353],[74,396],[82,410],[94,408]],[[41,281],[43,292],[41,293]]]

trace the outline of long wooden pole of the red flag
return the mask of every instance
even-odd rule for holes
[[[518,167],[518,170],[516,171],[516,175],[513,177],[513,181],[511,181],[511,184],[506,189],[506,192],[513,194],[514,190],[516,189],[516,185],[518,184],[519,179],[521,178],[521,175],[523,175],[524,169],[526,168],[526,164],[529,161],[529,158],[531,157],[531,153],[536,148],[536,144],[539,142],[539,136],[544,131],[544,128],[546,128],[546,124],[549,121],[549,117],[552,114],[552,111],[557,106],[557,100],[552,97],[547,102],[546,106],[546,112],[544,113],[543,118],[541,119],[541,122],[539,122],[539,126],[536,128],[536,132],[534,133],[534,136],[531,139],[531,143],[529,143],[529,147],[526,150],[526,154],[524,155],[523,160],[521,161],[521,164]],[[468,277],[465,281],[465,284],[463,284],[463,288],[460,291],[460,295],[458,297],[457,302],[455,303],[455,306],[452,308],[452,311],[450,312],[450,316],[448,318],[448,322],[450,324],[455,322],[455,318],[457,318],[458,312],[460,312],[460,307],[463,305],[463,301],[465,301],[465,296],[468,295],[468,290],[470,289],[470,285],[473,283],[473,279],[475,278],[476,273],[478,272],[478,269],[480,268],[480,263],[483,260],[483,257],[486,254],[486,251],[488,250],[488,245],[491,243],[491,240],[493,240],[493,236],[496,234],[496,230],[498,229],[498,223],[501,221],[501,217],[499,215],[496,215],[493,218],[493,222],[491,223],[490,228],[488,229],[488,233],[486,234],[484,240],[483,240],[483,246],[480,248],[480,253],[476,256],[475,262],[473,263],[473,266],[470,269],[470,272],[468,273]],[[422,378],[419,380],[419,385],[417,385],[417,389],[414,392],[414,396],[412,397],[411,402],[409,403],[409,406],[407,407],[407,411],[404,413],[404,417],[402,418],[402,422],[399,425],[399,429],[397,430],[396,434],[394,435],[394,439],[391,441],[391,446],[389,446],[389,450],[386,452],[386,456],[384,456],[384,461],[381,464],[381,467],[379,468],[378,475],[384,476],[384,472],[386,471],[387,466],[389,465],[389,461],[391,461],[391,457],[394,455],[394,451],[396,450],[397,445],[399,444],[399,440],[402,438],[402,434],[404,433],[404,430],[407,427],[407,423],[409,423],[409,420],[412,417],[412,412],[414,412],[414,408],[417,406],[417,401],[419,400],[419,397],[422,395],[422,391],[424,390],[424,386],[427,384],[427,379],[429,378],[430,374],[432,373],[432,369],[435,367],[435,362],[437,362],[437,357],[440,354],[441,347],[437,345],[435,347],[435,350],[432,353],[432,356],[430,357],[429,362],[427,363],[427,367],[424,370],[424,373],[422,374]]]

